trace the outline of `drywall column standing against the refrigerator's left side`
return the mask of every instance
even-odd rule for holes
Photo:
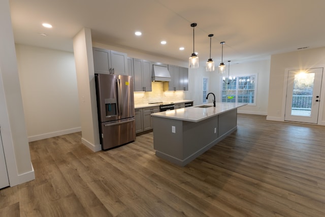
[[[82,143],[92,151],[102,149],[99,137],[95,75],[92,57],[91,30],[83,28],[73,38],[80,107]]]

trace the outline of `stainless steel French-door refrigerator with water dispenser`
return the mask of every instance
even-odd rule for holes
[[[95,74],[102,149],[136,139],[133,77]]]

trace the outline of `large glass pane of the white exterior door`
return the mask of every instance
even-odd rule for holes
[[[295,75],[291,115],[311,116],[315,73]]]

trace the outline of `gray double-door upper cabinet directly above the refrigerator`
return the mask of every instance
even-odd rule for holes
[[[92,53],[95,73],[129,75],[126,53],[96,47],[92,48]]]

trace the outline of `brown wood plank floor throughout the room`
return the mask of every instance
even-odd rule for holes
[[[325,216],[323,126],[239,114],[236,132],[185,167],[152,143],[31,142],[36,179],[0,190],[0,216]]]

